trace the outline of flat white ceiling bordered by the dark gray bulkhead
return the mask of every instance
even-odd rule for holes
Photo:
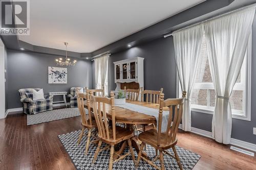
[[[131,35],[205,0],[33,0],[30,35],[33,45],[87,53]]]

